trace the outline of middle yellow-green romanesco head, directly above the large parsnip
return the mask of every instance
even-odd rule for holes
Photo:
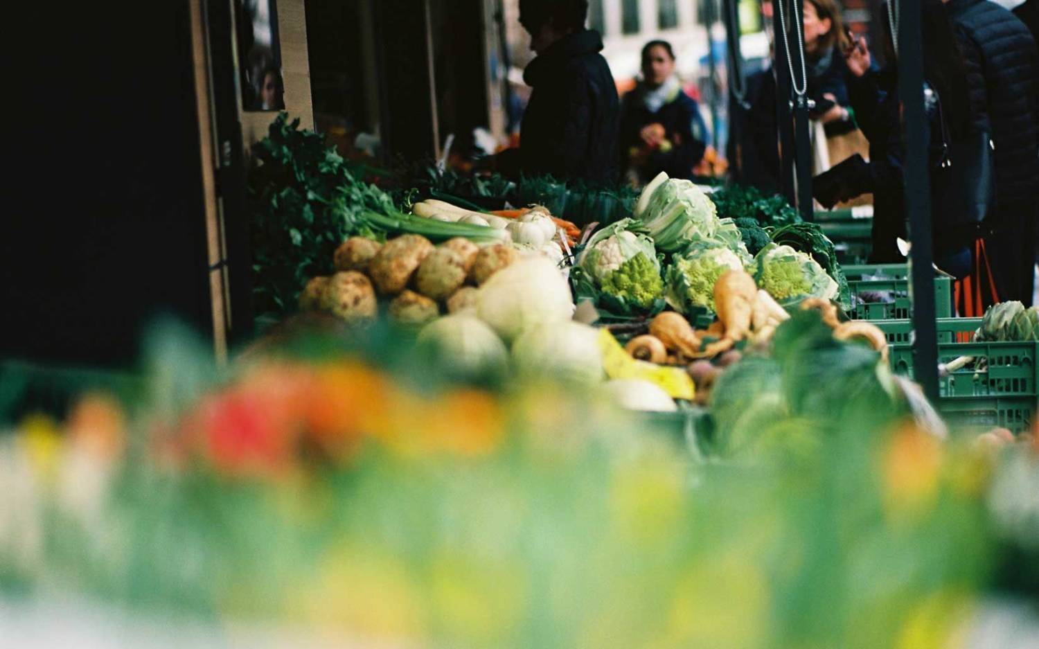
[[[668,267],[664,297],[677,312],[715,310],[714,285],[730,270],[743,270],[743,260],[732,249],[721,245],[690,248],[675,255]]]

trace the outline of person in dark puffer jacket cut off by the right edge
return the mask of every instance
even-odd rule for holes
[[[1039,50],[1013,13],[948,0],[978,123],[995,146],[994,214],[985,246],[1001,301],[1032,302],[1039,220]]]

